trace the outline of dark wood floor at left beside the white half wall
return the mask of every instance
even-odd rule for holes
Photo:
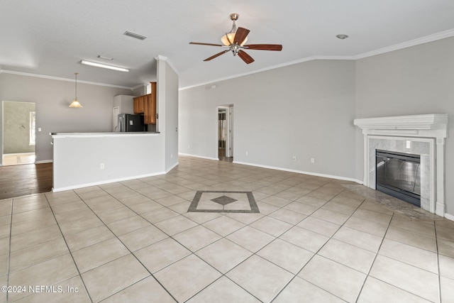
[[[0,166],[0,199],[50,192],[52,163]]]

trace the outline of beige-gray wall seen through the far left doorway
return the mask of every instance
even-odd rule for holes
[[[34,153],[30,145],[30,113],[34,103],[3,102],[3,153]]]

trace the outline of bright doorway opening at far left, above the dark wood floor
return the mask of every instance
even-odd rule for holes
[[[35,163],[35,103],[3,101],[3,165]]]

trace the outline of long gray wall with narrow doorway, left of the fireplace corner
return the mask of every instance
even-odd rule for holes
[[[354,61],[314,60],[214,84],[180,91],[180,153],[216,158],[216,106],[233,104],[235,162],[356,177]]]

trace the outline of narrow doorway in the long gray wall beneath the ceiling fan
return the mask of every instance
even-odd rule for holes
[[[233,162],[233,104],[218,106],[218,159]]]

